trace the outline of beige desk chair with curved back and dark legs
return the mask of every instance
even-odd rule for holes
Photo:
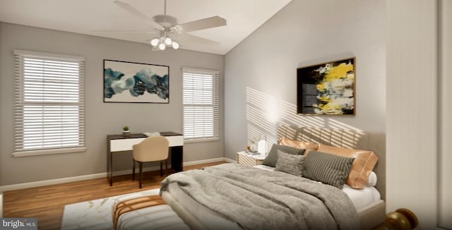
[[[161,135],[153,135],[145,138],[141,143],[133,145],[133,174],[132,180],[135,181],[135,162],[138,162],[140,188],[143,178],[143,163],[145,162],[160,162],[160,176],[162,174],[162,163],[165,161],[165,169],[168,170],[168,151],[169,143],[167,138]]]

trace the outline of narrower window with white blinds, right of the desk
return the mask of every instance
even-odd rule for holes
[[[184,139],[218,140],[218,71],[182,68]]]

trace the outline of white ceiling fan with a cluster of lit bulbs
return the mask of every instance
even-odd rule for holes
[[[225,18],[220,16],[213,16],[210,18],[203,18],[200,20],[194,20],[189,23],[177,23],[177,18],[167,15],[167,0],[165,0],[165,11],[163,15],[153,16],[153,18],[148,18],[144,13],[138,11],[133,6],[126,4],[123,1],[116,0],[114,4],[123,8],[125,11],[131,13],[131,15],[143,20],[144,23],[148,23],[158,33],[157,37],[150,40],[150,44],[153,46],[153,50],[164,50],[166,47],[172,47],[173,49],[179,49],[179,43],[175,41],[177,39],[179,42],[198,42],[200,44],[218,44],[213,40],[207,40],[202,37],[197,37],[194,35],[189,35],[186,32],[191,32],[195,30],[205,30],[208,28],[216,28],[226,25]],[[104,31],[105,32],[105,31]],[[114,31],[109,31],[114,32]],[[116,32],[152,32],[152,31],[116,31]]]

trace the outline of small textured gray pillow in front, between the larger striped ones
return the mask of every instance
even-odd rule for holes
[[[305,157],[305,155],[292,155],[278,150],[275,171],[283,171],[287,174],[302,176]]]

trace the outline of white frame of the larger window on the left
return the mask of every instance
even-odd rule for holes
[[[83,56],[71,56],[64,54],[51,54],[44,52],[30,52],[25,50],[14,50],[14,64],[15,64],[15,87],[14,87],[14,152],[12,153],[13,157],[25,157],[25,156],[34,156],[34,155],[49,155],[49,154],[58,154],[58,153],[66,153],[66,152],[84,152],[86,150],[85,147],[85,58]],[[78,78],[76,78],[77,83],[72,85],[78,85],[77,87],[77,97],[75,102],[49,102],[44,99],[41,101],[30,101],[25,99],[25,59],[38,59],[40,61],[60,61],[60,62],[72,62],[78,63]],[[59,63],[61,64],[61,63]],[[49,67],[47,67],[49,68]],[[43,68],[44,69],[44,68]],[[44,75],[45,78],[45,74]],[[67,74],[69,75],[69,74]],[[49,77],[49,75],[47,75]],[[69,79],[69,78],[68,78]],[[67,79],[65,79],[67,80]],[[28,82],[28,84],[33,83],[33,81]],[[48,84],[42,84],[44,87],[49,87]],[[64,83],[57,84],[57,89],[61,90],[64,88]],[[44,92],[38,92],[44,95]],[[24,109],[25,107],[30,107],[35,105],[40,107],[44,111],[45,107],[60,107],[60,114],[64,113],[64,106],[68,107],[76,107],[76,112],[78,118],[76,126],[78,127],[78,138],[74,138],[78,143],[76,145],[68,145],[67,147],[59,144],[59,146],[54,147],[30,147],[28,150],[27,147],[24,147],[24,129],[25,125],[23,124],[24,118]],[[48,109],[48,108],[47,108]],[[58,109],[58,108],[57,108]],[[74,112],[70,115],[66,115],[66,119],[69,116],[73,116]],[[64,116],[59,116],[63,118]],[[61,122],[61,121],[60,121]],[[62,131],[63,128],[60,128],[59,133],[64,134]],[[40,137],[42,138],[42,137]],[[60,138],[59,141],[61,141]],[[42,140],[42,143],[45,141]]]

